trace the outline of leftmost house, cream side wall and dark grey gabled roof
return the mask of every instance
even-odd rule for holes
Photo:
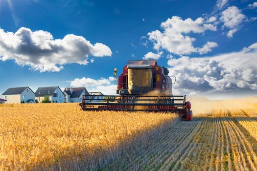
[[[8,88],[3,94],[5,103],[35,103],[35,93],[28,87]]]

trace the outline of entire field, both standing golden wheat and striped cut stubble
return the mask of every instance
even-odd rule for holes
[[[0,171],[257,170],[256,99],[195,101],[192,110],[185,122],[76,104],[2,105]]]

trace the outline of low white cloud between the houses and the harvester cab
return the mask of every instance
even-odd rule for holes
[[[70,86],[72,87],[83,87],[85,86],[87,90],[90,91],[100,91],[104,95],[115,95],[117,85],[114,84],[114,77],[101,78],[99,80],[94,80],[92,78],[83,77],[81,79],[74,79],[70,81]]]

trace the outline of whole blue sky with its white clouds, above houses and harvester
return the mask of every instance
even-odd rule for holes
[[[0,94],[54,85],[114,94],[113,69],[143,57],[177,76],[175,94],[257,94],[255,0],[0,0],[0,28]]]

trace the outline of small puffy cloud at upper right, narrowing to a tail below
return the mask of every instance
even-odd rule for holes
[[[220,21],[223,25],[230,29],[227,36],[233,37],[233,34],[238,30],[240,24],[246,18],[236,6],[230,6],[226,10],[221,12]]]

